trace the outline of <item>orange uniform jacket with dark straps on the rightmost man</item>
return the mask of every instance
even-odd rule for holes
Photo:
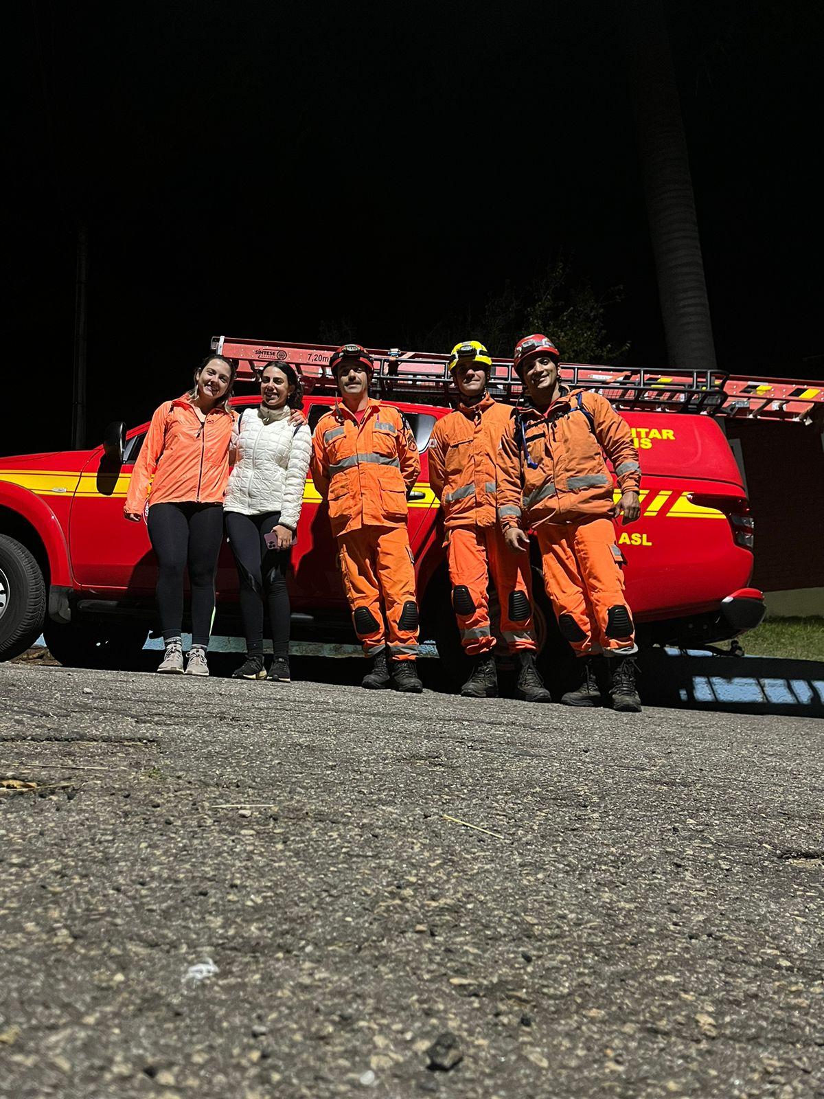
[[[622,492],[637,491],[641,466],[630,428],[605,397],[563,390],[545,412],[513,413],[498,452],[501,526],[528,530],[613,513],[612,463]]]

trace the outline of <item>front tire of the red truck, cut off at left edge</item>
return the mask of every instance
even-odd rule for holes
[[[32,553],[0,534],[0,660],[24,653],[46,617],[46,582]]]

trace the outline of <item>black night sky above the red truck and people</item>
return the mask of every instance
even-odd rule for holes
[[[719,365],[824,378],[822,5],[668,13]],[[69,445],[78,220],[90,443],[181,392],[213,334],[448,351],[427,333],[483,338],[465,319],[557,255],[623,287],[606,319],[628,363],[666,365],[620,3],[15,18],[7,348],[20,407],[46,399],[3,453]]]

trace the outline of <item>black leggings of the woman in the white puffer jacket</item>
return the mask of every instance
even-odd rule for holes
[[[246,634],[246,652],[264,651],[266,600],[271,628],[271,651],[275,656],[287,657],[292,611],[286,577],[291,550],[269,550],[264,541],[264,534],[269,534],[279,522],[279,511],[267,511],[263,515],[226,512],[226,532],[241,584],[241,614]]]

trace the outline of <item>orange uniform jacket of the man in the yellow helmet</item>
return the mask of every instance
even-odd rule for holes
[[[430,485],[447,530],[495,525],[495,457],[513,411],[487,393],[477,404],[458,404],[435,424],[427,451]]]

